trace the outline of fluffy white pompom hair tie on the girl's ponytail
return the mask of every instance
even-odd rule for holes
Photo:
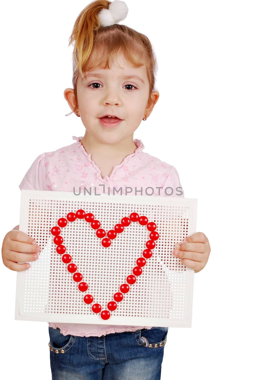
[[[115,0],[109,5],[109,9],[101,9],[98,18],[101,26],[110,26],[123,21],[128,14],[128,7],[124,1]]]

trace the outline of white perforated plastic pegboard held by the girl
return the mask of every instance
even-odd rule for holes
[[[114,230],[132,212],[156,223],[159,233],[153,255],[146,259],[142,274],[129,285],[128,293],[103,320],[92,306],[99,303],[108,310],[109,301],[120,292],[120,285],[133,274],[137,259],[143,257],[150,240],[147,225],[131,222],[122,233],[103,247],[102,239],[85,219],[76,218],[60,228],[60,236],[71,255],[71,262],[88,284],[80,291],[68,271],[68,264],[56,252],[51,228],[59,218],[82,209],[91,212],[106,231]],[[131,326],[191,327],[194,270],[172,254],[175,244],[196,232],[197,199],[162,196],[79,195],[71,192],[21,190],[19,229],[33,237],[41,247],[30,268],[17,272],[16,320],[96,323]],[[107,237],[107,235],[106,235]],[[93,302],[86,304],[84,296]]]

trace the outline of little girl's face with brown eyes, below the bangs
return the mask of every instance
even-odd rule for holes
[[[147,108],[149,82],[145,66],[131,67],[122,54],[109,66],[110,69],[96,67],[84,72],[85,79],[78,76],[77,101],[80,118],[90,137],[102,143],[115,144],[133,139],[134,131],[145,114],[149,116],[153,106]],[[67,90],[70,89],[65,90],[68,101]],[[153,94],[157,101],[159,93],[154,91]],[[99,120],[104,115],[115,115],[122,121],[115,127],[107,128]]]

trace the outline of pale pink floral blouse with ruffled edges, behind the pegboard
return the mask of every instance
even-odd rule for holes
[[[91,195],[109,194],[122,188],[122,195],[184,197],[179,176],[174,166],[143,152],[144,144],[135,139],[137,149],[114,166],[110,176],[101,177],[101,170],[87,154],[80,142],[83,136],[75,137],[71,145],[40,154],[32,163],[19,185],[21,190],[51,190],[84,194],[84,187]],[[99,186],[101,185],[101,186]],[[90,190],[91,188],[91,190]],[[142,193],[141,193],[142,191]],[[136,194],[135,194],[136,192]],[[86,193],[88,195],[88,193]],[[114,326],[81,323],[53,323],[63,335],[102,336],[112,332],[135,331],[151,326]]]

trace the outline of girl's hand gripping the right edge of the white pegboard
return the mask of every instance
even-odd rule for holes
[[[173,255],[181,258],[181,262],[188,268],[195,269],[195,273],[201,271],[211,252],[210,244],[203,232],[196,232],[177,243]]]

